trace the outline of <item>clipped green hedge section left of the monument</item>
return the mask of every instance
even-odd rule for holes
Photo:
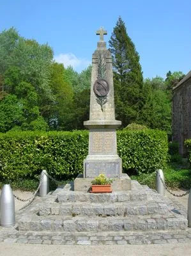
[[[46,169],[56,179],[76,177],[88,155],[88,132],[0,134],[0,178],[33,178]]]

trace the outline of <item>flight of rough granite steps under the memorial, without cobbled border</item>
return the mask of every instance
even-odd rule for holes
[[[31,231],[36,236],[39,232],[87,232],[89,236],[126,232],[129,236],[130,232],[185,230],[188,225],[171,200],[134,181],[131,191],[109,194],[76,193],[70,186],[56,189],[36,198],[16,217],[19,232]]]

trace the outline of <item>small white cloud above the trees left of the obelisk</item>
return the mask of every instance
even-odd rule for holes
[[[73,53],[61,53],[54,57],[58,63],[63,63],[65,67],[72,66],[77,72],[81,72],[88,67],[91,62],[84,58],[77,58]]]

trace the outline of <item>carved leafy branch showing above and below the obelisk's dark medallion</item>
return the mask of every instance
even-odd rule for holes
[[[99,58],[98,58],[98,79],[101,79],[101,78],[106,78],[106,63],[105,63],[105,60],[102,56],[102,54],[99,55]],[[106,96],[97,96],[96,97],[96,102],[101,106],[102,108],[102,111],[103,111],[103,105],[105,103],[107,103],[107,95]]]

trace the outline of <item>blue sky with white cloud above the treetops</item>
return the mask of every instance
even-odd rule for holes
[[[96,30],[103,26],[107,47],[121,16],[140,56],[144,78],[191,70],[190,0],[0,0],[0,33],[49,44],[54,58],[80,72],[91,64]]]

